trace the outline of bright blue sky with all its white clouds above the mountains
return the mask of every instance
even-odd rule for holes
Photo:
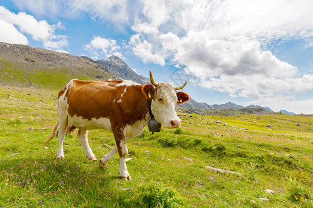
[[[0,3],[0,42],[118,55],[137,73],[208,104],[231,101],[313,114],[310,0]]]

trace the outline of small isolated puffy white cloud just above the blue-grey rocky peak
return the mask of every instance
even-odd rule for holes
[[[111,55],[116,55],[119,58],[124,58],[122,53],[120,53],[120,46],[116,43],[116,40],[112,40],[111,38],[93,37],[93,40],[90,41],[89,44],[85,46],[87,51],[93,53],[95,59],[99,58],[100,56],[105,56],[108,58]]]

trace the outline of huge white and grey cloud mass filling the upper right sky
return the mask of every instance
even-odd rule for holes
[[[136,21],[129,42],[143,62],[171,61],[198,77],[198,85],[232,98],[261,100],[313,89],[312,75],[300,75],[266,49],[290,38],[311,46],[310,1],[154,2],[158,7],[143,1],[145,18]]]

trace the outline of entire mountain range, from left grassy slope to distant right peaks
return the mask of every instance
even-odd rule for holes
[[[94,61],[86,56],[75,56],[22,44],[3,42],[0,42],[0,71],[0,83],[53,89],[60,89],[72,78],[83,80],[113,78],[132,80],[141,84],[150,83],[149,78],[136,73],[115,55],[107,60]],[[247,107],[260,106],[249,105],[243,107],[232,102],[209,105],[199,103],[191,98],[190,101],[180,105],[180,107],[193,107],[200,110],[222,108],[241,110]],[[273,112],[268,107],[264,107],[264,110]],[[286,110],[280,110],[280,112],[294,115],[293,112],[287,112]]]

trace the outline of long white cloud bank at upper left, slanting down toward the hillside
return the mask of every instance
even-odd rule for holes
[[[21,42],[23,34],[26,33],[31,35],[33,40],[42,42],[46,49],[62,49],[64,46],[67,46],[67,37],[55,34],[56,28],[61,28],[60,23],[50,25],[47,21],[38,21],[35,17],[27,15],[25,12],[19,12],[18,14],[10,12],[3,6],[0,6],[0,20],[6,23],[6,27],[2,23],[3,28],[1,28],[2,32],[0,32],[2,36],[6,35],[6,37],[3,37],[3,40],[8,39],[14,43],[27,44],[28,41],[23,40]],[[16,39],[14,36],[10,37],[10,33],[5,32],[6,28],[10,28],[12,34],[19,34]]]

